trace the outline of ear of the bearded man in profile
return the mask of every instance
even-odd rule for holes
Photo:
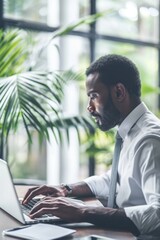
[[[118,102],[122,102],[126,98],[126,88],[122,83],[117,83],[112,88],[112,97]]]

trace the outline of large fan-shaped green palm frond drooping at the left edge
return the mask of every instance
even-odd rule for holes
[[[62,78],[58,74],[26,72],[0,79],[0,123],[3,135],[23,121],[31,140],[30,127],[49,138],[53,118],[59,118]]]

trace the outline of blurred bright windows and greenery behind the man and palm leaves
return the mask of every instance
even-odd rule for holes
[[[104,54],[131,58],[141,74],[142,98],[159,116],[159,12],[159,0],[0,0],[0,28],[19,30],[27,56],[24,71],[72,70],[84,74],[90,62]],[[97,13],[102,16],[92,24],[80,24],[46,45],[59,28]],[[64,113],[85,115],[86,106],[85,77],[68,81],[64,87]],[[82,130],[79,142],[71,127],[69,144],[58,144],[51,137],[50,142],[43,139],[40,145],[33,130],[30,146],[20,126],[8,139],[7,161],[15,181],[71,183],[103,173],[111,163],[114,131],[96,131],[93,135],[88,138]]]

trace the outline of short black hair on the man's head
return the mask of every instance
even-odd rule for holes
[[[108,54],[100,57],[86,70],[86,76],[98,72],[100,80],[107,86],[122,83],[129,94],[140,97],[141,80],[136,65],[127,57]]]

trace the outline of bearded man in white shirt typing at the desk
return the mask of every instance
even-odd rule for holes
[[[32,209],[32,218],[52,213],[69,222],[89,222],[135,235],[158,234],[160,121],[141,102],[137,67],[126,57],[106,55],[92,63],[86,75],[88,111],[102,131],[118,126],[123,140],[118,164],[117,207],[83,206],[66,198],[96,196],[107,202],[110,171],[69,186],[31,188],[23,203],[44,194],[46,198]]]

